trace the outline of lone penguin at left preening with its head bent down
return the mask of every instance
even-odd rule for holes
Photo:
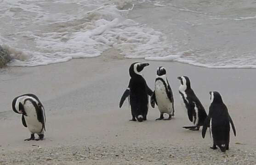
[[[28,140],[43,140],[46,131],[46,114],[43,104],[37,96],[28,93],[17,96],[12,101],[12,110],[18,114],[22,114],[23,126],[28,127],[31,132]],[[38,134],[39,138],[35,139],[34,134]]]

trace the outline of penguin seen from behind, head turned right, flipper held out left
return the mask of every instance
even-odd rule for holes
[[[137,121],[142,122],[147,120],[148,95],[151,96],[153,92],[141,74],[145,66],[149,66],[149,64],[141,62],[131,64],[129,68],[130,82],[119,102],[119,108],[121,108],[125,99],[129,96],[132,115],[130,121],[136,121],[137,119]]]

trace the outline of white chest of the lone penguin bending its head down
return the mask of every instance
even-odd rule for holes
[[[34,105],[30,102],[27,102],[26,104],[24,104],[24,109],[27,113],[28,116],[24,116],[25,117],[25,121],[27,123],[28,126],[28,130],[31,133],[41,133],[43,132],[43,124],[38,121],[37,119],[37,114],[36,114],[36,110],[34,108]]]

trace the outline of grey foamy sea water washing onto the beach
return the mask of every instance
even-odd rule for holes
[[[97,57],[256,68],[253,0],[0,0],[10,66]]]

